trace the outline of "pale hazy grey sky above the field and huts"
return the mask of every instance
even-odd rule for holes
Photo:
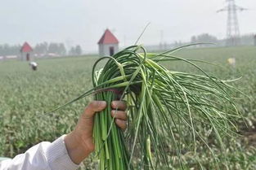
[[[0,0],[0,44],[32,45],[41,41],[80,44],[97,50],[104,29],[110,28],[129,46],[145,25],[146,45],[163,41],[189,41],[192,35],[210,33],[225,37],[227,13],[216,13],[225,0]],[[249,11],[239,13],[240,33],[256,33],[256,1],[236,0]]]

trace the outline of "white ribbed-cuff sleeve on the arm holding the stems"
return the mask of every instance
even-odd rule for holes
[[[54,142],[41,142],[14,159],[0,162],[0,170],[75,170],[79,165],[72,162],[65,148],[64,137]]]

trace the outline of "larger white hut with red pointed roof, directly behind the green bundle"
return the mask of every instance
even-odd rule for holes
[[[119,50],[119,41],[107,28],[101,39],[98,41],[100,56],[112,56]]]

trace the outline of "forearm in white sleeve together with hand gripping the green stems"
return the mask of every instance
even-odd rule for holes
[[[111,115],[120,129],[127,127],[126,104],[111,102]],[[74,130],[54,142],[41,142],[24,154],[0,162],[0,170],[74,170],[94,150],[93,119],[98,111],[106,108],[105,101],[93,101],[85,108]],[[118,111],[116,111],[118,109]]]

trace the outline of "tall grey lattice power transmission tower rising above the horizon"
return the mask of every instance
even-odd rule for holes
[[[235,0],[226,0],[227,7],[217,12],[227,11],[227,46],[237,46],[240,44],[240,30],[237,19],[237,11],[245,11],[247,9],[236,6]]]

